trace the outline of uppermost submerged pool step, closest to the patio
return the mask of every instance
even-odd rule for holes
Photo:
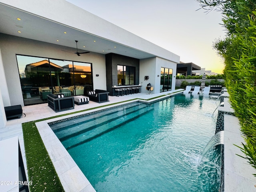
[[[95,128],[95,125],[101,126],[102,124],[106,124],[107,122],[115,120],[118,117],[126,116],[127,114],[143,108],[145,108],[145,105],[137,103],[133,104],[132,106],[118,108],[118,110],[107,110],[66,122],[68,126],[61,126],[61,124],[57,124],[57,126],[51,127],[60,140],[65,140],[66,137],[76,136],[78,134],[82,134],[83,132],[87,132],[88,130]],[[72,122],[72,125],[70,125],[70,122]]]

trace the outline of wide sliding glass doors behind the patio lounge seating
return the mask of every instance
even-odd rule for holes
[[[47,101],[47,95],[83,95],[92,90],[92,64],[17,55],[24,105]]]

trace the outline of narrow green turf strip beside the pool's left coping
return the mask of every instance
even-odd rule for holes
[[[64,192],[34,121],[22,123],[30,192]]]

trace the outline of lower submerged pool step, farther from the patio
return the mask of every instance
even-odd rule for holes
[[[80,132],[76,132],[64,138],[61,138],[60,141],[65,146],[65,148],[67,149],[73,148],[75,146],[78,146],[90,140],[93,140],[94,138],[97,138],[102,134],[108,133],[116,128],[119,128],[120,126],[126,124],[127,122],[136,120],[137,118],[143,116],[144,114],[147,114],[149,110],[154,110],[154,109],[151,108],[150,106],[145,106],[143,108],[140,108],[140,110],[135,110],[133,112],[126,114],[125,116],[116,117],[116,118],[107,120],[100,125],[94,124],[93,126],[87,127]]]

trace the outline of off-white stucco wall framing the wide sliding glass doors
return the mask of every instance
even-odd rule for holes
[[[106,63],[104,54],[91,52],[77,56],[76,54],[62,51],[66,49],[66,47],[63,46],[6,34],[0,34],[0,49],[7,82],[6,85],[1,84],[1,86],[3,86],[1,90],[4,105],[8,105],[9,96],[10,105],[24,105],[16,54],[92,63],[94,89],[106,90]],[[99,76],[96,77],[96,74],[99,74]],[[1,78],[3,78],[3,76],[1,76]],[[6,90],[8,90],[9,94],[7,98],[3,93],[3,91]]]

